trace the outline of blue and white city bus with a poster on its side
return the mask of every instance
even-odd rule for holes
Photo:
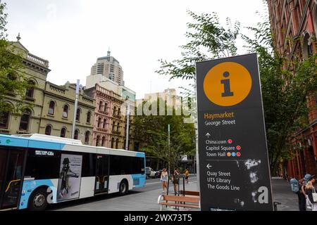
[[[47,205],[145,186],[145,154],[42,134],[0,134],[0,210]]]

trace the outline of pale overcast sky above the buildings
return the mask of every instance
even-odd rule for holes
[[[144,94],[187,86],[182,79],[169,82],[157,75],[159,60],[181,58],[179,46],[187,44],[187,23],[194,13],[218,13],[255,26],[264,13],[262,0],[3,0],[7,4],[8,39],[20,42],[30,53],[49,60],[47,77],[54,84],[75,83],[85,86],[92,65],[106,56],[110,48],[123,68],[125,86]],[[239,54],[247,53],[238,41]]]

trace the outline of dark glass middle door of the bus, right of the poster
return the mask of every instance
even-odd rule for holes
[[[94,194],[108,193],[108,180],[109,180],[109,156],[97,155],[96,163],[96,181]]]

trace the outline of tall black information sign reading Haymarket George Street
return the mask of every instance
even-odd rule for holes
[[[256,54],[197,63],[201,210],[273,210]]]

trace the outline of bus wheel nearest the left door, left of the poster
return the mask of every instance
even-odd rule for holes
[[[28,209],[31,211],[44,211],[47,207],[47,191],[45,188],[39,188],[33,191],[30,196]]]

